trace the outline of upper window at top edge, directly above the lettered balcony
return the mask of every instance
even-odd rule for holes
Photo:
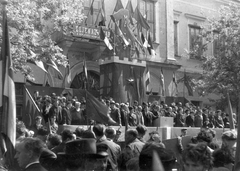
[[[93,15],[91,16],[90,6],[92,4],[92,0],[84,0],[84,9],[83,13],[87,16],[87,18],[83,21],[83,24],[87,24],[90,26],[95,26],[97,16],[101,7],[101,0],[94,0],[93,3]]]

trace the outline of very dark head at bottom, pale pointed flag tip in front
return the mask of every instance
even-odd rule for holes
[[[139,167],[141,171],[152,170],[153,152],[158,155],[165,171],[176,168],[176,157],[173,151],[165,149],[159,143],[146,143],[139,156]]]

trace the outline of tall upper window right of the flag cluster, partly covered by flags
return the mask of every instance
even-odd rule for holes
[[[153,41],[155,41],[155,16],[154,16],[154,2],[141,0],[139,4],[139,10],[143,17],[147,19],[147,22],[150,26],[150,35]],[[145,33],[144,33],[145,34]],[[146,35],[146,34],[145,34]]]

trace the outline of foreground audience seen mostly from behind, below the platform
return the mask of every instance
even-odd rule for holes
[[[39,119],[37,117],[36,119]],[[29,134],[22,121],[17,122],[16,170],[25,171],[232,171],[236,153],[237,133],[225,131],[222,144],[213,141],[215,131],[202,128],[183,147],[178,137],[178,154],[166,148],[159,132],[149,133],[147,127],[138,125],[126,130],[124,146],[118,142],[117,130],[111,126],[95,124],[74,131],[49,133],[44,127],[37,134]],[[0,149],[0,170],[4,168],[4,156]],[[161,161],[161,162],[160,162]],[[240,170],[240,164],[235,171]],[[13,168],[9,170],[14,170]]]

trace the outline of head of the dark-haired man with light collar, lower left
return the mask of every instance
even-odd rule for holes
[[[16,154],[14,158],[21,168],[25,168],[32,162],[38,162],[45,144],[38,138],[24,138],[16,143]]]

